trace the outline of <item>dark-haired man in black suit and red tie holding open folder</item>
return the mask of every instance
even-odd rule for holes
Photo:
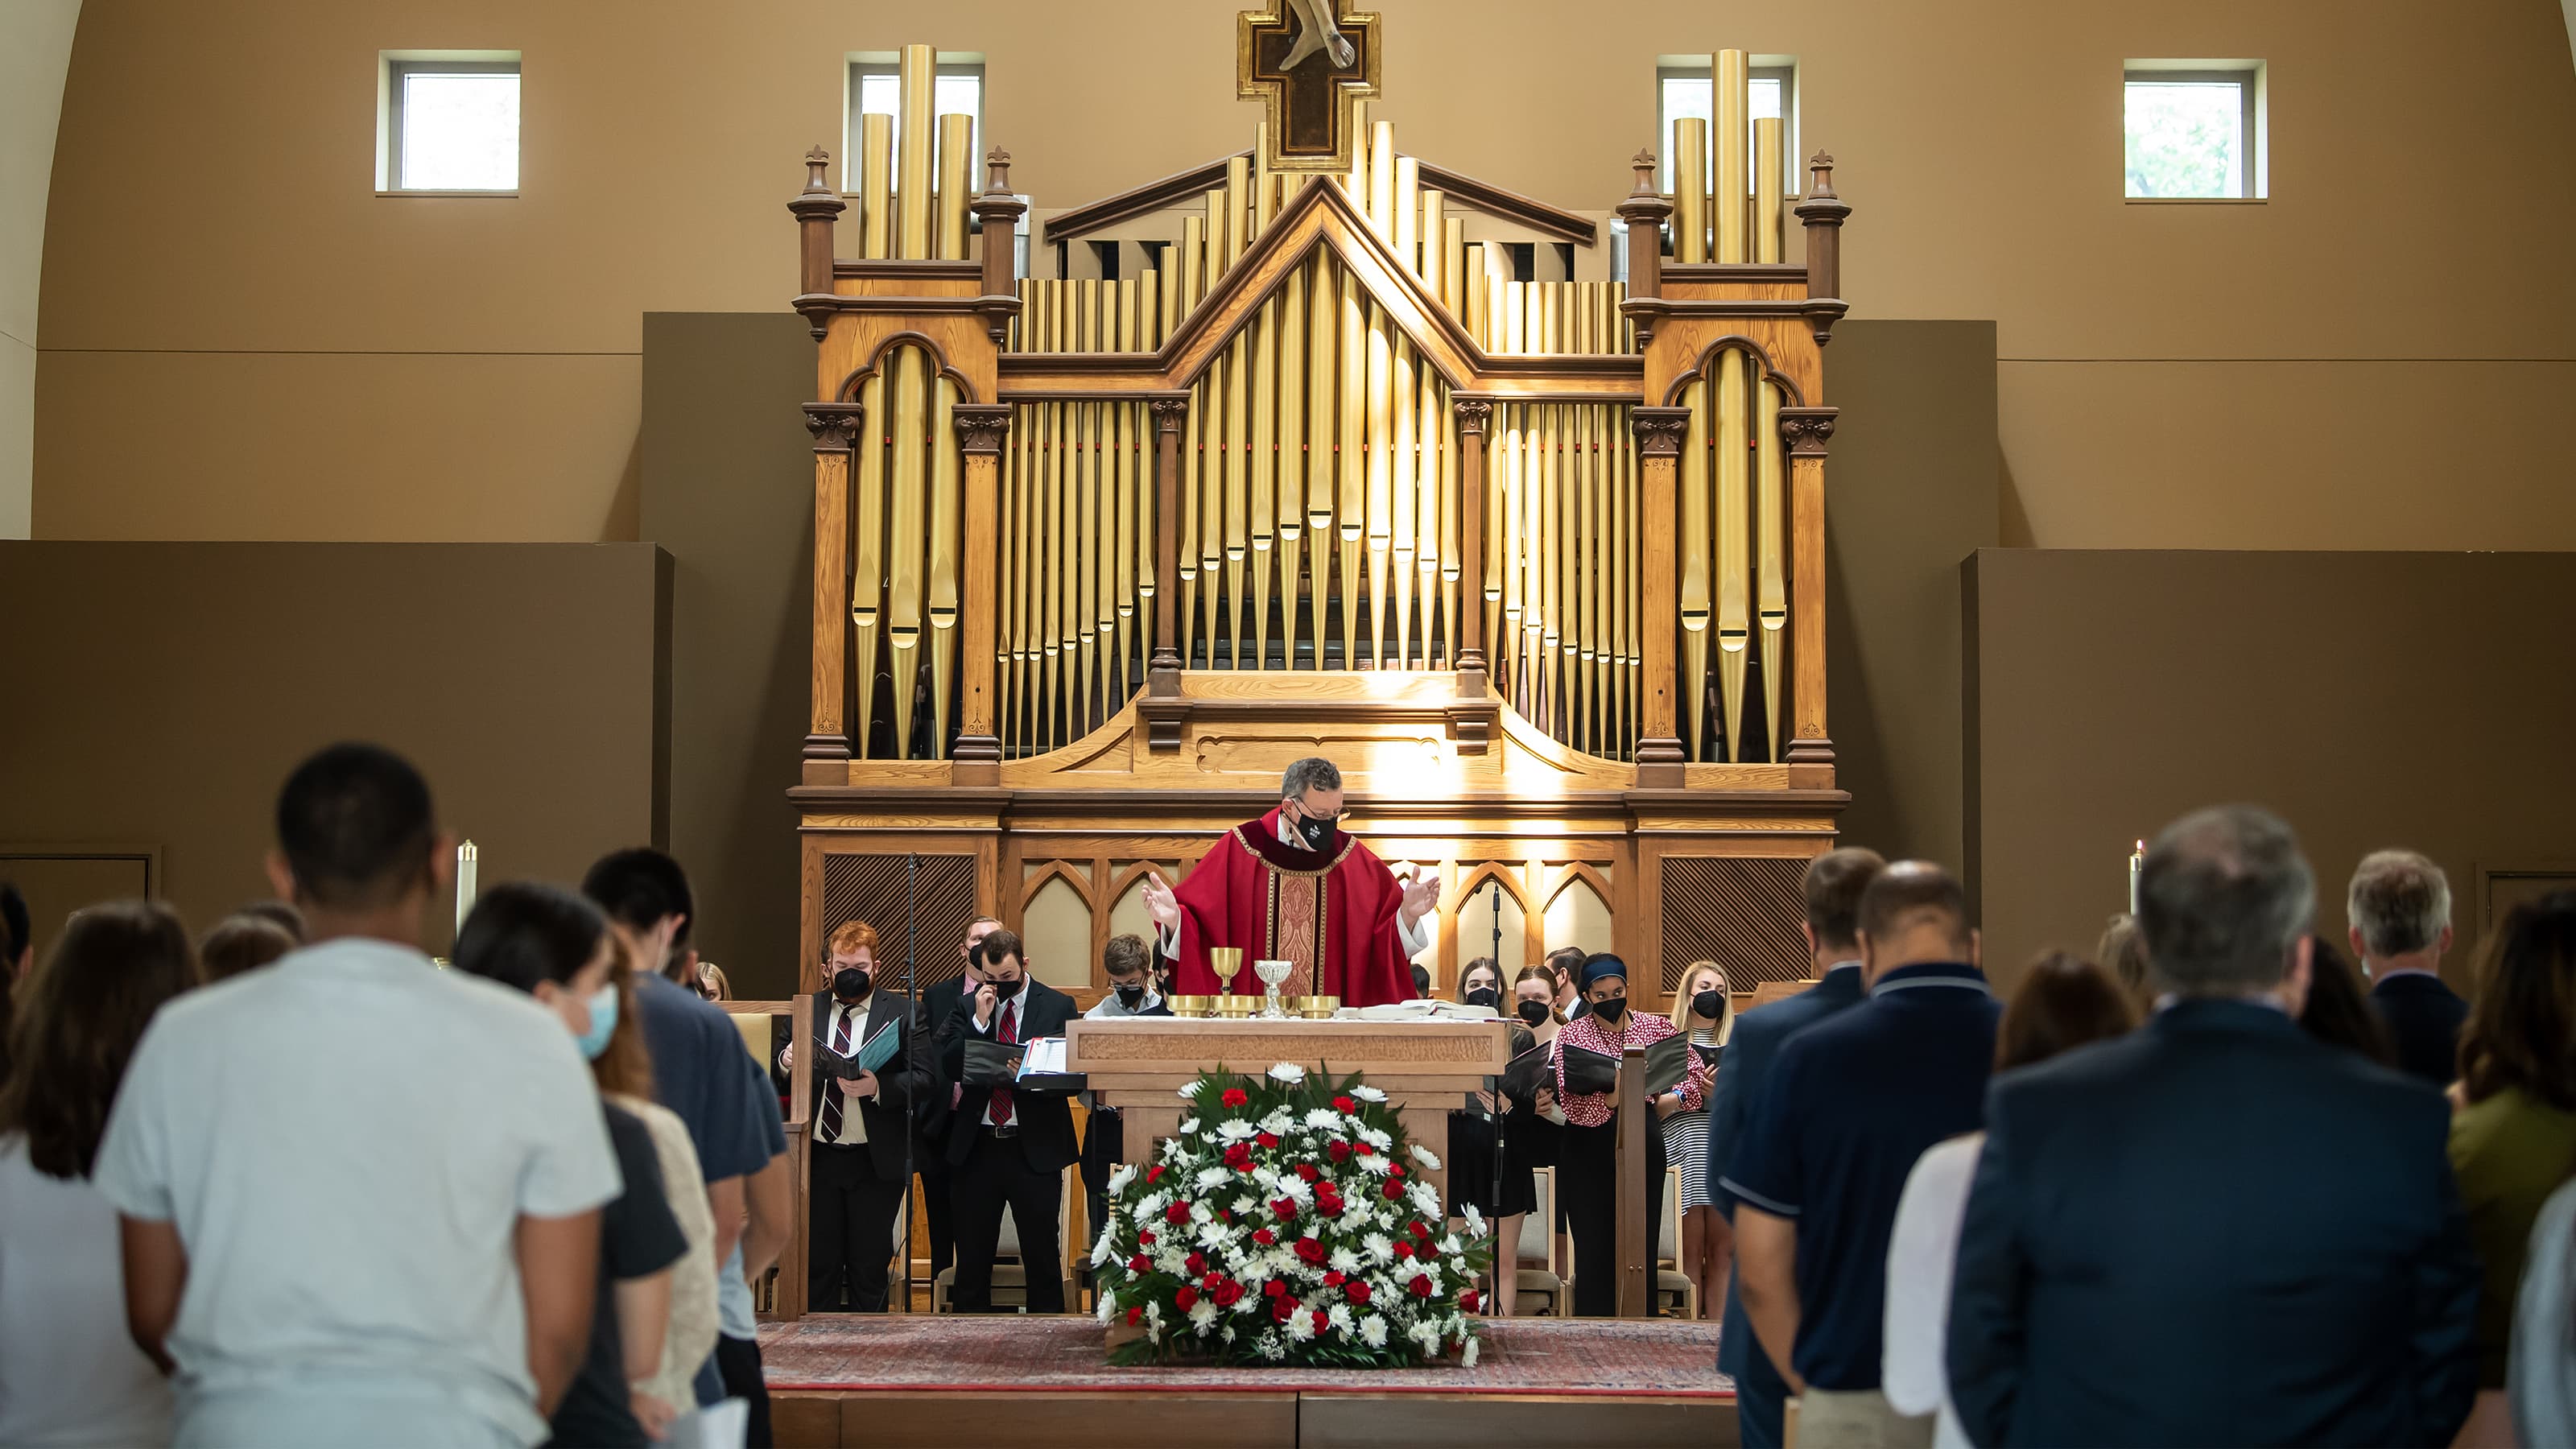
[[[958,1312],[992,1312],[992,1258],[1007,1207],[1028,1271],[1028,1312],[1064,1312],[1059,1212],[1064,1168],[1079,1158],[1072,1098],[969,1083],[966,1044],[1015,1047],[1064,1036],[1064,1024],[1074,1018],[1074,998],[1030,980],[1028,949],[1010,931],[984,936],[976,954],[984,985],[976,987],[971,1008],[948,1013],[938,1044],[940,1067],[958,1085],[956,1111],[948,1119],[958,1253],[951,1302]]]

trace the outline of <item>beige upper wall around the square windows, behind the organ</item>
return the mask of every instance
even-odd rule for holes
[[[1579,15],[1579,18],[1574,18]],[[2576,75],[2548,0],[1386,8],[1406,150],[1625,188],[1656,54],[1801,57],[1868,317],[1991,317],[2002,541],[2576,547]],[[634,536],[644,312],[775,309],[842,57],[989,57],[1041,206],[1247,142],[1231,5],[90,0],[39,536]],[[376,52],[526,54],[523,196],[379,199]],[[2272,199],[2120,201],[2123,57],[2264,57]],[[850,248],[845,248],[850,250]]]

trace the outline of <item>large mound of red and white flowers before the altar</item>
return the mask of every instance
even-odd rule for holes
[[[1092,1248],[1110,1361],[1409,1369],[1476,1364],[1476,1274],[1494,1261],[1473,1204],[1448,1227],[1386,1093],[1296,1065],[1180,1088],[1193,1116],[1154,1163],[1110,1173]]]

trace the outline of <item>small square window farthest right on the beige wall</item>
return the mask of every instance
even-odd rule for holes
[[[2123,183],[2138,201],[2264,196],[2259,62],[2128,62]]]

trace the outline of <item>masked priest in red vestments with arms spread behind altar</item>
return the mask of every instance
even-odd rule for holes
[[[1422,918],[1440,908],[1440,877],[1396,879],[1342,830],[1342,771],[1306,758],[1280,779],[1278,810],[1226,830],[1180,890],[1146,879],[1144,902],[1182,995],[1216,995],[1208,949],[1239,946],[1236,993],[1262,990],[1252,962],[1288,962],[1280,995],[1383,1006],[1414,995],[1412,959],[1432,944]]]

